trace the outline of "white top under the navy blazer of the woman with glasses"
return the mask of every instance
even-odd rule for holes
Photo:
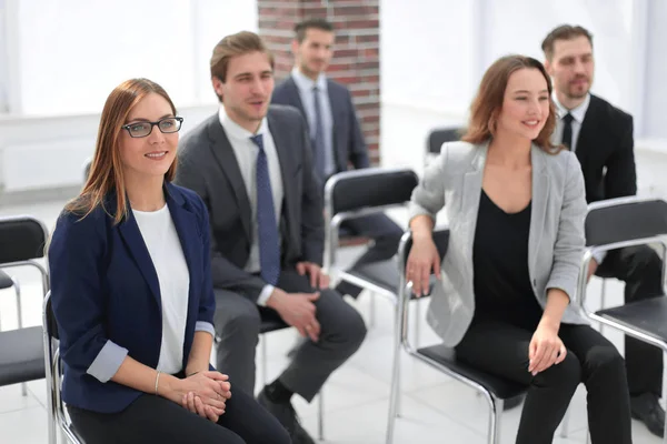
[[[162,342],[157,370],[183,370],[183,342],[190,292],[190,272],[169,206],[158,211],[132,210],[143,243],[158,274],[162,304]]]

